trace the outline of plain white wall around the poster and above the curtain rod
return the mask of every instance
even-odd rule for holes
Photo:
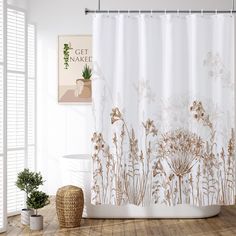
[[[92,16],[84,15],[85,7],[96,9],[97,1],[29,0],[28,5],[29,19],[38,31],[38,170],[49,194],[62,184],[62,156],[90,150],[91,106],[57,102],[57,37],[91,33]],[[231,9],[232,0],[101,0],[101,8]]]

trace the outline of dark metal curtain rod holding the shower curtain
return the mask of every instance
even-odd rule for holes
[[[85,15],[89,13],[236,13],[236,10],[90,10],[85,8]]]

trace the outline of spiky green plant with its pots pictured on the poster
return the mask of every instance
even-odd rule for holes
[[[85,64],[81,79],[76,80],[75,96],[78,97],[83,91],[86,97],[91,97],[92,69]]]

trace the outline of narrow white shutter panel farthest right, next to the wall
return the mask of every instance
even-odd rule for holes
[[[36,37],[35,26],[28,24],[28,168],[36,165]]]

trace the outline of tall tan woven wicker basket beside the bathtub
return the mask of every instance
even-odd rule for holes
[[[79,227],[84,208],[84,195],[81,188],[73,185],[57,190],[56,210],[60,227]]]

